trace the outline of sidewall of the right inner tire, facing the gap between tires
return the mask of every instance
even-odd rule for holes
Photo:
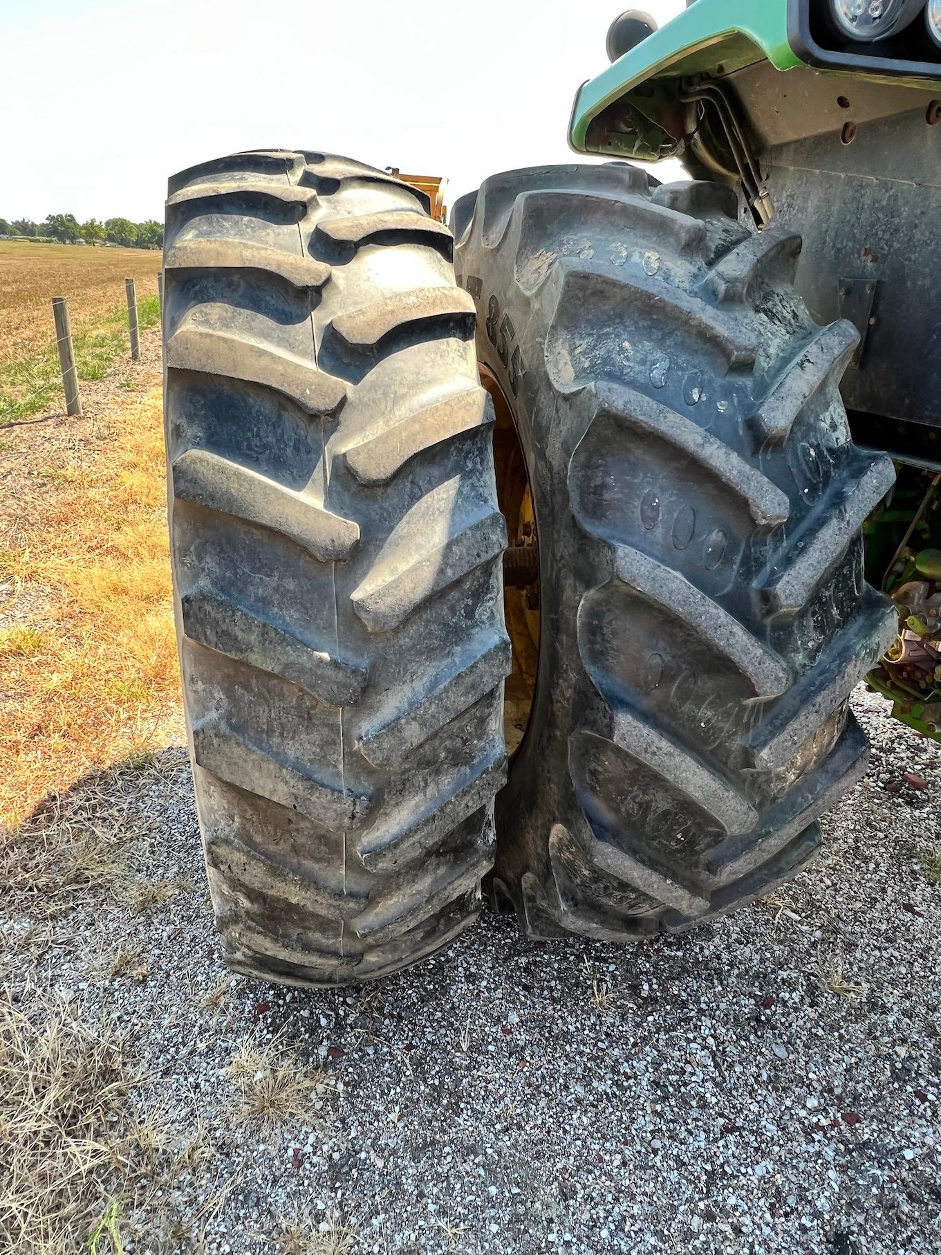
[[[551,875],[546,837],[558,816],[581,813],[568,769],[572,714],[591,709],[597,725],[607,712],[583,670],[572,665],[577,610],[585,591],[605,584],[611,569],[592,561],[596,552],[582,543],[568,502],[568,463],[591,420],[591,405],[581,403],[578,393],[560,397],[550,379],[546,346],[556,284],[528,294],[514,281],[511,247],[474,247],[469,241],[460,247],[458,270],[477,305],[478,363],[499,384],[523,452],[540,548],[536,692],[496,804],[497,831],[512,833],[512,841],[498,841],[494,873],[516,886],[526,872]],[[521,902],[516,906],[522,911]]]

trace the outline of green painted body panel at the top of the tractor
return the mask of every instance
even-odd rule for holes
[[[609,157],[673,157],[683,142],[676,125],[680,80],[693,74],[729,74],[760,60],[782,72],[803,64],[788,40],[788,0],[696,0],[580,88],[568,142],[576,152]],[[898,82],[859,70],[821,73]],[[906,84],[937,90],[937,80],[906,79]],[[591,143],[592,120],[624,98],[631,129],[609,133],[603,144]]]

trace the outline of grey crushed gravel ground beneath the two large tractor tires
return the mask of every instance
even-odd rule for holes
[[[941,1251],[941,747],[854,704],[869,776],[785,891],[626,949],[486,911],[334,993],[227,978],[184,754],[115,774],[87,822],[110,814],[127,877],[5,925],[19,1009],[64,995],[125,1034],[157,1133],[149,1168],[98,1182],[108,1232],[134,1255]]]

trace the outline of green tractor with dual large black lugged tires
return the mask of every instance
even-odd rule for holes
[[[941,3],[695,0],[609,51],[570,132],[607,161],[496,174],[450,231],[320,152],[171,179],[235,971],[381,976],[482,884],[532,937],[690,927],[813,858],[859,681],[941,725]]]

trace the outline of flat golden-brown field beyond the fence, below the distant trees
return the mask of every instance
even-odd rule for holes
[[[69,297],[73,331],[94,326],[124,300],[157,292],[161,255],[147,248],[90,248],[0,240],[0,368],[43,349],[55,336],[51,297]]]

